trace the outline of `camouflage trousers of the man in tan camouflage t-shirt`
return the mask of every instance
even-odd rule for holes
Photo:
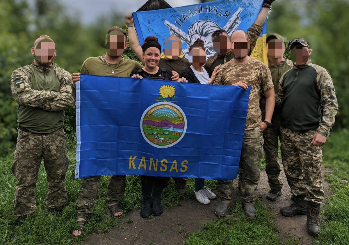
[[[259,160],[263,156],[263,133],[259,126],[245,129],[239,163],[239,183],[244,203],[254,203],[260,178]],[[226,204],[231,199],[232,180],[218,180],[217,191],[221,201]]]

